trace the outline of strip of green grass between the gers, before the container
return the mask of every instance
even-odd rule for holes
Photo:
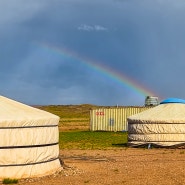
[[[126,146],[127,133],[122,132],[60,132],[60,149],[109,149]]]

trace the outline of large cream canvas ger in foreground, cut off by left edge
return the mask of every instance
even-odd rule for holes
[[[61,168],[58,123],[56,115],[0,96],[0,179]]]

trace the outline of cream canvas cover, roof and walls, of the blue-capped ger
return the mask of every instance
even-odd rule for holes
[[[160,104],[127,120],[129,145],[185,144],[185,104]]]

